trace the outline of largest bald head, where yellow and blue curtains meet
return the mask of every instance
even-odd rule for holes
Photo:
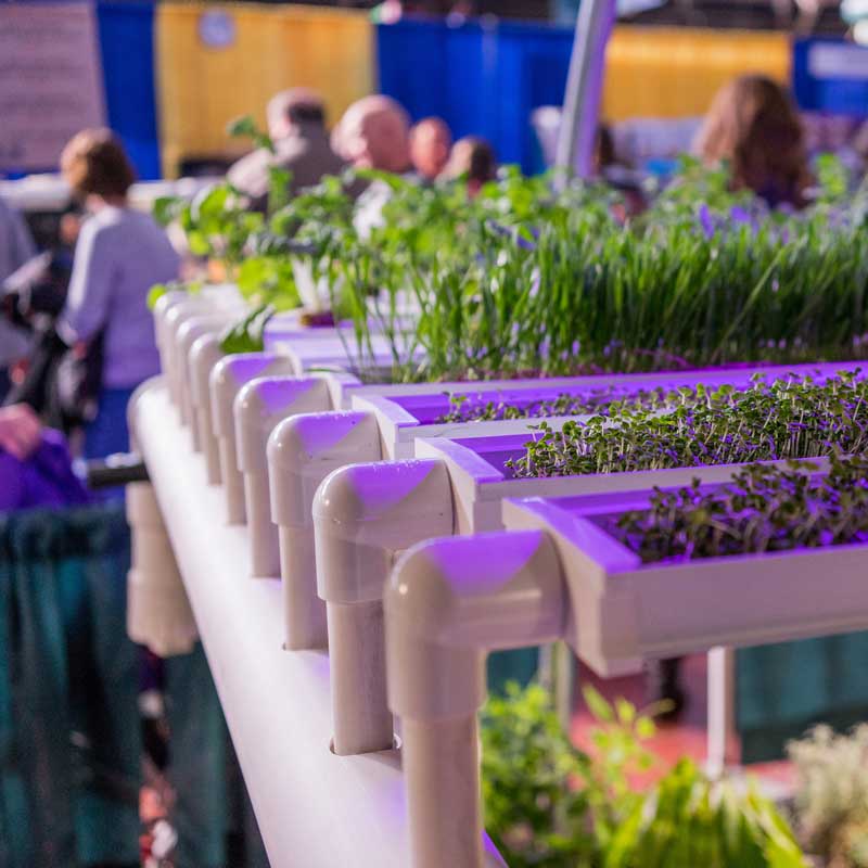
[[[332,132],[335,153],[356,168],[396,174],[410,168],[410,119],[390,97],[365,97],[344,112]]]

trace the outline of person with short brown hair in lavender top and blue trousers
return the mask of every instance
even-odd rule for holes
[[[84,451],[102,458],[129,449],[127,403],[159,370],[148,293],[176,279],[180,263],[153,218],[129,207],[135,174],[111,130],[74,136],[61,170],[89,217],[76,242],[58,333],[95,368],[97,410],[85,429]]]

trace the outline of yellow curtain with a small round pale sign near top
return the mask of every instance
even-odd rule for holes
[[[322,93],[332,126],[371,92],[374,33],[367,14],[311,7],[161,3],[156,76],[163,170],[181,159],[243,152],[227,124],[265,106],[280,90]]]

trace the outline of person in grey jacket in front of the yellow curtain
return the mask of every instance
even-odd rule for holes
[[[257,210],[268,205],[272,167],[292,173],[290,195],[319,183],[323,175],[340,175],[344,168],[329,142],[326,110],[317,92],[307,88],[281,91],[271,98],[266,114],[275,153],[260,148],[239,159],[227,176]]]

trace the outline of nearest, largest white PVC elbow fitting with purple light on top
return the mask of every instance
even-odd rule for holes
[[[553,641],[565,633],[569,608],[542,531],[417,546],[396,564],[383,603],[388,704],[417,720],[475,713],[485,699],[475,654]]]

